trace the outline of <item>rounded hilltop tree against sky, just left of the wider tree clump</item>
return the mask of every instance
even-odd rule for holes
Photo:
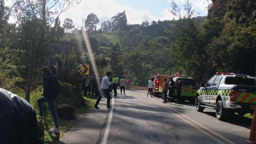
[[[94,13],[90,13],[87,15],[87,18],[84,23],[85,23],[84,24],[85,29],[89,33],[92,33],[93,30],[96,30],[97,24],[99,23],[98,16]]]

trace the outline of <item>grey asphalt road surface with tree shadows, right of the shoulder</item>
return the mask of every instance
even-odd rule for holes
[[[219,121],[214,110],[200,113],[189,102],[163,104],[160,98],[145,97],[146,91],[126,93],[114,98],[112,112],[106,111],[97,143],[245,143],[249,137],[252,119],[234,115]]]

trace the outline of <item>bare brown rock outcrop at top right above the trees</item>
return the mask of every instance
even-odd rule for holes
[[[208,11],[207,19],[222,19],[226,14],[224,7],[227,1],[228,0],[212,0],[212,5]]]

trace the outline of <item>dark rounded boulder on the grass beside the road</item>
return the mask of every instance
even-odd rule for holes
[[[57,107],[57,113],[61,117],[65,117],[68,119],[75,119],[75,108],[67,105],[67,104],[61,104]]]

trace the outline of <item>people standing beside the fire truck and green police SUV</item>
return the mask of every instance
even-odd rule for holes
[[[152,93],[153,93],[153,89],[155,89],[155,87],[154,87],[154,80],[155,80],[154,77],[151,77],[148,80],[148,93],[147,93],[147,97],[148,97],[149,93],[150,93],[151,97],[153,97]],[[168,83],[167,79],[164,78],[164,85],[163,85],[163,89],[162,89],[162,92],[164,94],[164,101],[163,101],[163,103],[173,102],[173,94],[174,94],[175,88],[177,89],[177,101],[175,103],[180,103],[181,102],[181,100],[180,100],[180,93],[181,93],[182,86],[183,86],[183,84],[182,84],[181,81],[177,81],[175,83],[173,81],[173,78],[170,77],[170,82]],[[168,93],[168,90],[169,90],[169,93]],[[169,98],[167,98],[167,93],[168,93],[168,97]]]

